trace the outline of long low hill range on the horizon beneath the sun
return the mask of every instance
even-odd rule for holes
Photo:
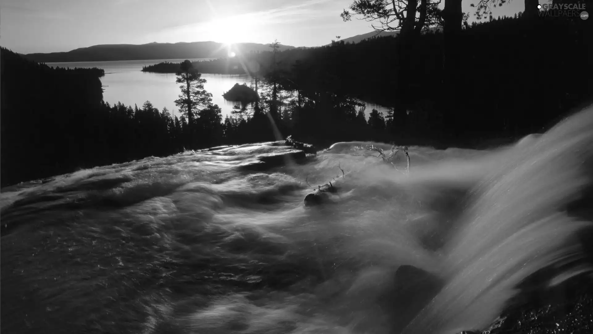
[[[280,51],[294,49],[294,46],[280,45]],[[232,52],[271,51],[266,44],[236,43]],[[68,52],[28,53],[25,58],[36,62],[116,61],[148,59],[192,59],[222,58],[228,55],[228,48],[216,42],[179,42],[134,44],[103,44],[79,48]]]

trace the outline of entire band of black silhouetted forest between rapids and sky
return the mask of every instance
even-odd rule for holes
[[[412,26],[425,24],[417,21]],[[2,48],[1,186],[289,135],[320,145],[374,140],[483,147],[542,132],[592,102],[585,74],[593,55],[590,21],[519,13],[459,22],[452,32],[445,26],[444,33],[321,48],[280,51],[275,42],[269,52],[186,61],[184,71],[181,64],[158,65],[182,83],[180,118],[148,101],[105,103],[99,69],[52,69]],[[208,66],[250,74],[259,100],[223,119],[203,90],[199,73]],[[192,84],[189,97],[186,83]],[[367,119],[359,99],[391,110],[372,111]]]

